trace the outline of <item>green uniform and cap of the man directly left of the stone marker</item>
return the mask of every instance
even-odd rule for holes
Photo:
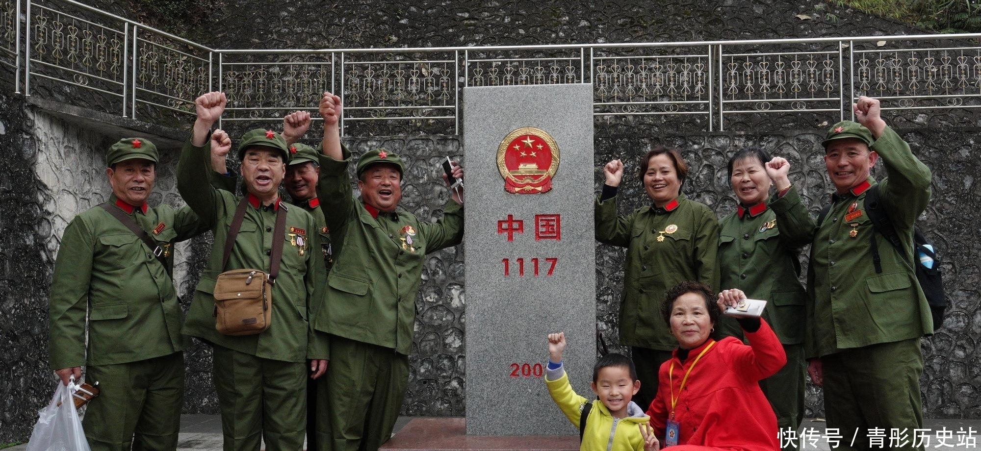
[[[314,320],[317,330],[332,335],[326,389],[318,390],[318,444],[374,450],[391,435],[404,397],[425,255],[461,241],[463,208],[450,200],[436,224],[401,208],[379,213],[352,197],[351,154],[343,149],[342,155],[341,161],[320,157],[317,185],[317,197],[331,212],[336,256],[329,302]],[[377,163],[402,172],[397,155],[377,149],[361,157],[358,175]]]

